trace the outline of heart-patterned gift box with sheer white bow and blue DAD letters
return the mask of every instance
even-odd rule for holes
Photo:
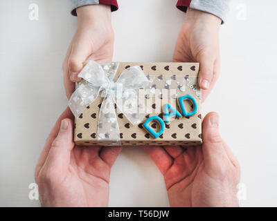
[[[87,66],[80,73],[83,79],[76,84],[76,91],[69,101],[75,114],[75,144],[202,144],[198,63],[99,62],[97,66],[93,61],[91,68]],[[99,75],[106,75],[105,81],[101,77],[98,79]],[[120,75],[124,76],[120,78]],[[115,96],[114,90],[118,92],[119,89],[114,89],[114,85],[119,81],[124,92]],[[126,88],[134,88],[139,93],[126,95]],[[104,111],[103,102],[105,106],[109,104],[110,111]],[[129,103],[121,104],[126,102]],[[132,102],[137,110],[123,111]],[[139,115],[138,120],[131,119],[136,115]]]

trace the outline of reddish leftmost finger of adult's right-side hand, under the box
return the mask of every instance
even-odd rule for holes
[[[165,175],[173,163],[172,157],[161,146],[143,146],[143,149],[157,165],[159,171]]]

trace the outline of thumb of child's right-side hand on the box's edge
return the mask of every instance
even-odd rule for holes
[[[198,84],[203,90],[208,90],[208,88],[210,88],[213,79],[213,64],[215,59],[213,59],[211,55],[213,55],[213,53],[203,52],[199,54],[199,59],[197,59],[200,63]]]

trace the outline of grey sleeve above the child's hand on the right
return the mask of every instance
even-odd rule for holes
[[[190,8],[211,13],[220,19],[222,23],[226,21],[226,15],[229,12],[229,4],[231,0],[192,0]]]

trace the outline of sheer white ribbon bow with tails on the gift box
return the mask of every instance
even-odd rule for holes
[[[80,83],[69,99],[69,108],[75,117],[79,117],[99,95],[104,97],[98,116],[98,144],[105,146],[120,145],[120,131],[114,104],[133,125],[141,123],[147,115],[138,111],[137,91],[150,84],[148,78],[139,66],[132,66],[123,70],[114,82],[118,65],[112,62],[100,66],[96,61],[89,61],[78,75],[86,81]]]

